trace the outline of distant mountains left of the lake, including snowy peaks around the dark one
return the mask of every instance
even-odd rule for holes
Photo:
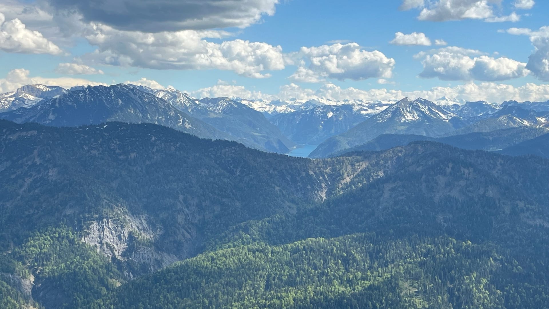
[[[287,153],[295,146],[260,112],[227,98],[198,101],[174,89],[155,91],[124,84],[75,87],[71,91],[25,86],[4,97],[21,93],[25,98],[31,96],[29,93],[43,98],[33,96],[22,108],[12,101],[5,108],[7,112],[0,113],[0,119],[52,126],[112,121],[155,123],[199,137],[242,142],[264,151]]]

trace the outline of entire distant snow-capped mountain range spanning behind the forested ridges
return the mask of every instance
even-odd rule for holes
[[[375,102],[326,98],[197,100],[172,87],[120,84],[66,90],[26,85],[0,95],[0,119],[53,126],[156,123],[268,152],[288,153],[298,145],[318,145],[311,157],[327,157],[385,134],[434,139],[506,128],[538,128],[549,121],[549,101],[495,104],[448,97],[434,102],[422,98]]]

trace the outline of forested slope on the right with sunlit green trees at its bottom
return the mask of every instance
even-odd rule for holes
[[[394,165],[321,206],[237,225],[92,308],[549,306],[547,161],[431,142],[359,157]]]

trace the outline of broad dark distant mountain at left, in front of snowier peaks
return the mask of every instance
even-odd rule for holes
[[[209,139],[229,138],[227,134],[190,117],[161,98],[124,84],[88,86],[82,90],[68,91],[29,108],[0,113],[0,119],[51,126],[113,121],[155,123]]]

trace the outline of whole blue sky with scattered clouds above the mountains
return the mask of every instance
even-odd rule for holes
[[[133,81],[196,97],[549,100],[546,1],[125,3],[0,4],[0,91]]]

